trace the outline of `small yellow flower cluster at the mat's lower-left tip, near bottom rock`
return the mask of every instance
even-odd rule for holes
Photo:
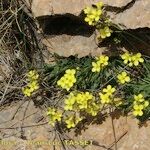
[[[55,108],[48,108],[47,116],[49,116],[49,124],[54,126],[56,121],[61,121],[62,112],[56,110]]]

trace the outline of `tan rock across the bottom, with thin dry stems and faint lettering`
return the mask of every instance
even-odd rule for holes
[[[114,132],[118,150],[149,150],[150,147],[150,122],[139,126],[138,121],[131,117],[119,117],[112,119],[101,118],[90,125],[85,124],[82,130],[78,128],[66,134],[60,134],[47,123],[42,111],[34,106],[34,103],[26,101],[11,104],[10,107],[0,111],[0,139],[2,150],[49,150],[63,149],[60,141],[64,142],[66,149],[83,150],[80,144],[65,142],[65,139],[86,141],[85,150],[114,149]],[[18,107],[20,106],[20,107]],[[28,107],[27,107],[28,106]],[[17,111],[17,112],[16,112]],[[26,114],[24,114],[26,111]],[[11,113],[10,113],[11,112]],[[43,112],[45,113],[45,112]],[[25,115],[25,116],[24,116]],[[12,117],[14,118],[12,119]],[[65,138],[65,139],[64,139]],[[88,142],[89,141],[89,142]],[[86,144],[85,143],[85,144]]]

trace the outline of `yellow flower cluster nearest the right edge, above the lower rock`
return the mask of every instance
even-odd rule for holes
[[[146,101],[142,94],[134,95],[133,102],[133,115],[142,116],[143,110],[149,105],[149,102]]]

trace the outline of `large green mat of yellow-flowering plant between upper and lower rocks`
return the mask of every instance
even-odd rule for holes
[[[140,53],[125,52],[120,58],[106,55],[74,57],[46,66],[45,79],[49,85],[62,88],[65,93],[61,105],[49,110],[55,109],[55,116],[59,114],[59,117],[61,111],[59,122],[66,124],[67,128],[76,127],[87,116],[96,118],[110,108],[132,112],[142,120],[149,114],[149,95],[140,88],[142,84],[147,85],[143,74],[149,76],[146,67],[149,63],[150,60]],[[55,125],[58,120],[52,122],[49,110],[50,124]]]

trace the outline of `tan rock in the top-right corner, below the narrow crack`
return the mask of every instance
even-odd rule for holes
[[[113,22],[125,25],[127,28],[150,28],[150,1],[137,0],[133,6],[114,16]]]

